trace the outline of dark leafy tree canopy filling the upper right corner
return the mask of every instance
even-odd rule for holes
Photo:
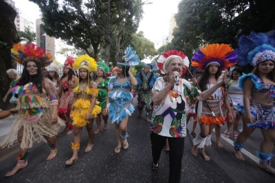
[[[273,0],[182,0],[173,44],[189,56],[209,43],[237,46],[239,36],[275,29]]]

